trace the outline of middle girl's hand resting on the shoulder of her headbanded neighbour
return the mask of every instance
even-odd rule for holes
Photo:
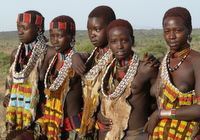
[[[83,76],[83,74],[85,73],[85,63],[83,62],[81,56],[78,53],[72,55],[72,68],[80,76]]]

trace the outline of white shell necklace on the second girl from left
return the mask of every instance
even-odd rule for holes
[[[45,88],[48,88],[49,90],[51,91],[56,91],[58,90],[58,88],[62,85],[62,83],[64,82],[65,78],[67,77],[67,74],[68,74],[68,71],[69,69],[71,68],[71,65],[72,65],[72,55],[74,54],[74,50],[72,49],[69,53],[67,53],[65,55],[65,58],[64,58],[64,63],[62,65],[62,67],[60,68],[60,71],[58,72],[58,75],[56,77],[56,79],[53,81],[53,83],[50,85],[50,87],[47,86],[47,77],[48,77],[48,74],[50,72],[50,69],[52,69],[53,67],[53,64],[55,62],[55,59],[57,58],[58,54],[56,54],[48,69],[47,69],[47,72],[45,74],[45,78],[44,78],[44,84],[45,84]]]

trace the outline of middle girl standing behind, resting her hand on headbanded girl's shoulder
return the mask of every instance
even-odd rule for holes
[[[89,137],[95,139],[96,136],[94,128],[99,104],[97,91],[100,87],[102,72],[112,60],[112,53],[107,46],[106,27],[113,20],[115,20],[115,13],[112,8],[104,5],[94,8],[88,16],[87,28],[89,39],[95,48],[85,64],[77,60],[78,54],[73,56],[75,62],[73,68],[82,75],[83,83],[84,107],[79,134],[86,139]]]

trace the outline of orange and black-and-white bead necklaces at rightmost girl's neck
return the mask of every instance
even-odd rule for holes
[[[170,55],[170,53],[168,53],[168,55],[167,55],[167,67],[168,67],[168,70],[170,72],[176,71],[180,67],[180,65],[184,62],[184,60],[187,58],[187,56],[189,55],[190,51],[191,51],[190,48],[186,48],[186,49],[182,50],[181,52],[179,52],[177,54],[177,56],[178,57],[182,57],[182,58],[181,58],[180,62],[177,65],[175,65],[173,68],[170,67],[170,56],[171,55]]]

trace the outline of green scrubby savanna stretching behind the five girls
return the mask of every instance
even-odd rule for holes
[[[46,32],[48,36],[48,32]],[[135,45],[134,50],[143,56],[145,52],[155,55],[157,58],[162,58],[167,51],[165,41],[163,39],[162,30],[135,30]],[[4,125],[4,108],[2,100],[4,97],[4,84],[6,74],[10,65],[10,54],[13,49],[17,48],[19,41],[17,32],[0,32],[0,125]],[[192,32],[191,47],[200,51],[200,29],[194,29]],[[91,52],[92,45],[89,42],[87,31],[78,31],[76,35],[76,49],[81,52]],[[2,127],[0,127],[2,129]],[[3,130],[0,130],[3,133]],[[1,137],[0,137],[1,139]]]

